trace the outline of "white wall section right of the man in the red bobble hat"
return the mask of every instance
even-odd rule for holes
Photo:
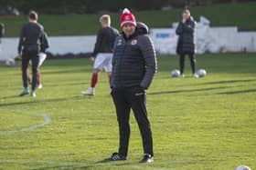
[[[152,29],[155,49],[160,54],[176,54],[176,29]],[[256,32],[238,32],[237,27],[208,27],[197,25],[197,54],[206,52],[256,52]]]

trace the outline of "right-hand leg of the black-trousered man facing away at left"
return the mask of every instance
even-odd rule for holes
[[[31,96],[36,96],[36,88],[37,88],[37,68],[39,64],[39,57],[37,53],[31,54],[31,61],[32,61],[32,92]]]

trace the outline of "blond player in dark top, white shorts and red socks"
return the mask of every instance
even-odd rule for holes
[[[102,70],[107,72],[109,82],[111,82],[112,79],[112,48],[114,40],[119,35],[119,32],[111,27],[110,15],[102,15],[100,22],[102,28],[98,31],[94,51],[91,55],[91,61],[94,62],[91,87],[86,91],[82,91],[81,95],[95,95],[95,86]]]

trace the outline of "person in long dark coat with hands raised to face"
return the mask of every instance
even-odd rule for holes
[[[196,57],[195,57],[195,27],[196,22],[190,15],[189,10],[185,10],[182,14],[182,21],[179,22],[176,28],[176,35],[178,35],[178,42],[176,47],[176,53],[179,56],[180,76],[184,77],[185,57],[189,56],[190,65],[192,68],[192,74],[194,77],[198,77],[196,74]]]

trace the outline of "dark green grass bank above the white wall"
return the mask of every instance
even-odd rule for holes
[[[138,21],[150,27],[170,27],[180,20],[183,9],[172,11],[134,12]],[[239,26],[246,30],[256,30],[256,3],[207,5],[191,7],[192,15],[198,20],[200,15],[208,17],[213,26]],[[99,29],[100,15],[40,15],[40,23],[45,25],[48,35],[95,35]],[[112,14],[112,25],[119,28],[120,14]],[[0,16],[5,23],[5,36],[17,36],[27,16]]]

